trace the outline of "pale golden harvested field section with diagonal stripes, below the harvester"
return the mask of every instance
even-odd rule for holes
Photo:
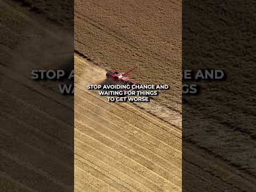
[[[181,131],[87,90],[105,73],[75,55],[75,188],[181,191]]]

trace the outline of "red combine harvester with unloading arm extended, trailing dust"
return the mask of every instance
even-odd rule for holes
[[[137,66],[133,67],[132,69],[128,70],[125,73],[121,73],[118,70],[111,70],[109,71],[106,76],[107,80],[111,83],[117,83],[117,84],[134,84],[131,82],[131,78],[127,76],[132,70],[136,69]]]

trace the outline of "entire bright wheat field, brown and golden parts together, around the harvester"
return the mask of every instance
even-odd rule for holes
[[[77,191],[181,191],[181,2],[165,3],[75,1]],[[133,104],[87,90],[134,65],[171,89]]]

